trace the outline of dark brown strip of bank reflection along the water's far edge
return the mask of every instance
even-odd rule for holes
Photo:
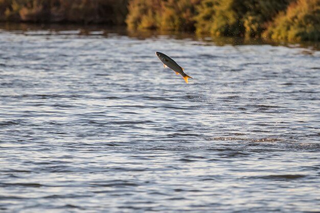
[[[152,31],[152,30],[140,30],[132,31],[127,30],[125,27],[106,27],[104,25],[59,25],[59,24],[43,24],[43,25],[32,25],[30,23],[0,23],[0,30],[15,31],[15,32],[30,32],[37,31],[37,33],[48,33],[48,34],[64,34],[70,33],[85,35],[85,36],[110,36],[113,34],[128,36],[131,38],[147,39],[154,37],[166,36],[173,39],[186,39],[186,40],[198,40],[203,41],[207,45],[284,45],[291,48],[309,48],[312,50],[320,50],[320,42],[314,41],[303,41],[300,43],[290,43],[286,41],[276,42],[271,40],[264,40],[262,38],[248,38],[248,37],[212,37],[209,35],[197,35],[188,32],[168,32],[168,31]],[[205,44],[202,44],[205,45]],[[310,53],[310,51],[306,51]]]

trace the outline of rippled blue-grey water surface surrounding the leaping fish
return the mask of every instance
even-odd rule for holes
[[[1,212],[320,212],[320,51],[76,29],[0,44]]]

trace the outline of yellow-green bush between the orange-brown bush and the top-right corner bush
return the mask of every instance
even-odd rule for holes
[[[292,0],[203,0],[195,17],[197,33],[259,37],[266,22]]]

